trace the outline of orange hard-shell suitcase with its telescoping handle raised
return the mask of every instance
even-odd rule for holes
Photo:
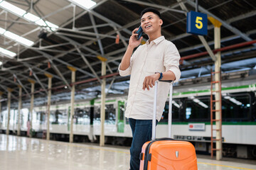
[[[139,159],[139,170],[197,170],[196,149],[190,142],[171,139],[172,82],[169,98],[169,138],[156,140],[156,94],[155,85],[154,118],[152,140],[144,143]]]

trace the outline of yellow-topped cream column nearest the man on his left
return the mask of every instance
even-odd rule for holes
[[[102,76],[106,75],[106,59],[101,58],[102,60]],[[102,88],[101,88],[101,107],[100,107],[100,146],[105,145],[105,135],[104,135],[104,123],[105,123],[105,98],[106,98],[106,93],[105,93],[105,88],[106,88],[106,78],[102,79]]]

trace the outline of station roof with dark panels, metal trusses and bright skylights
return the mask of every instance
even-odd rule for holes
[[[31,79],[36,82],[35,95],[46,99],[48,77],[45,74],[50,74],[53,76],[52,93],[56,95],[56,100],[70,99],[71,71],[68,67],[76,69],[75,81],[80,82],[76,85],[76,96],[93,98],[100,93],[100,57],[107,59],[107,74],[113,76],[107,78],[107,84],[114,84],[110,86],[110,93],[123,93],[128,88],[129,77],[119,77],[115,73],[132,30],[140,25],[140,12],[146,7],[159,9],[164,21],[162,35],[174,42],[180,52],[182,76],[177,86],[183,84],[182,80],[210,74],[214,62],[209,55],[183,60],[188,55],[206,52],[198,35],[186,33],[186,13],[195,11],[195,1],[93,2],[91,7],[85,7],[75,0],[0,0],[2,98],[7,98],[8,88],[14,89],[12,97],[17,98],[17,85],[22,86],[23,98],[29,98],[31,82],[28,79]],[[87,4],[89,1],[84,5]],[[198,11],[222,23],[221,47],[250,42],[256,38],[255,0],[204,0],[198,2]],[[117,35],[119,43],[116,43]],[[214,26],[210,21],[208,35],[203,38],[213,50]],[[244,45],[223,51],[222,72],[245,71],[255,74],[255,46]]]

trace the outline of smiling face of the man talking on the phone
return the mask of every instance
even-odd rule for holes
[[[146,34],[155,33],[161,29],[163,21],[155,13],[147,12],[144,13],[141,19],[141,26]]]

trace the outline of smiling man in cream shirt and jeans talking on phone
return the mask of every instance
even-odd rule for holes
[[[121,76],[131,74],[125,111],[133,137],[130,149],[131,170],[139,170],[139,154],[142,151],[142,145],[151,140],[155,81],[159,79],[178,81],[181,77],[181,71],[178,68],[180,55],[176,46],[161,36],[162,24],[159,11],[154,8],[144,9],[141,13],[141,26],[144,33],[149,36],[149,40],[145,45],[140,45],[142,37],[137,40],[138,28],[135,28],[119,65]],[[135,47],[138,48],[132,54]],[[157,122],[161,119],[168,92],[169,84],[159,82]]]

